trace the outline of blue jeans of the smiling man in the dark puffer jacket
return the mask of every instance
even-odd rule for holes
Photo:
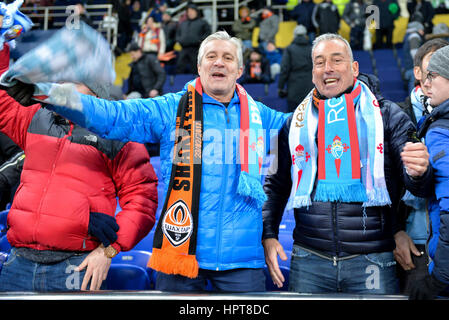
[[[396,294],[399,287],[395,265],[392,252],[359,255],[334,262],[294,245],[289,291]]]

